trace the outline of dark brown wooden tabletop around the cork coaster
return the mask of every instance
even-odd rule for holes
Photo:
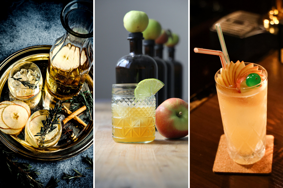
[[[277,51],[254,63],[268,73],[266,134],[274,136],[271,174],[213,173],[218,143],[224,134],[216,94],[190,113],[190,187],[283,187],[283,64]]]

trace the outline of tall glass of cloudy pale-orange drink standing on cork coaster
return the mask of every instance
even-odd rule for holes
[[[220,85],[216,81],[220,70],[214,77],[228,153],[239,164],[256,163],[265,154],[267,71],[254,65],[266,76],[252,87],[236,89]]]

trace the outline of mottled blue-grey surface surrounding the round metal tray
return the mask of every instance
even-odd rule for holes
[[[0,17],[0,61],[20,49],[48,44],[52,45],[55,39],[65,32],[60,22],[60,12],[65,6],[65,1],[3,1],[0,6],[2,16]],[[69,2],[69,1],[67,1]],[[88,155],[93,158],[93,146],[83,153],[57,162],[42,162],[18,156],[19,162],[30,163],[32,167],[39,169],[39,179],[44,185],[52,176],[60,179],[59,187],[93,187],[93,170],[85,169],[88,164],[82,162],[82,156]],[[63,172],[69,171],[74,174],[73,169],[83,173],[86,177],[79,178],[67,184],[62,179]],[[10,173],[10,172],[7,172]],[[0,187],[10,187],[11,183],[0,178]]]

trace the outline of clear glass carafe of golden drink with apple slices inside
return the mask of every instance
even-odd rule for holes
[[[93,64],[93,2],[75,0],[60,14],[65,34],[50,49],[48,91],[59,99],[79,93]]]

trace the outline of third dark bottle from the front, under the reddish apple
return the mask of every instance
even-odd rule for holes
[[[156,57],[163,59],[163,44],[155,45]],[[174,97],[174,64],[164,60],[167,65],[167,99]]]

